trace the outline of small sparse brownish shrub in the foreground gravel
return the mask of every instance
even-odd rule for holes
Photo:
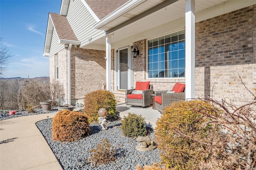
[[[91,162],[95,166],[107,164],[116,159],[116,151],[106,139],[102,139],[101,142],[97,144],[96,148],[90,150],[90,152],[92,153]]]

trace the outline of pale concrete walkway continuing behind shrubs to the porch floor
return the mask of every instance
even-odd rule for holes
[[[152,106],[136,108],[118,103],[116,109],[120,112],[121,118],[129,112],[142,115],[147,126],[153,128],[160,117],[160,113],[152,109]],[[38,121],[53,118],[56,113],[0,121],[0,170],[62,170],[50,146],[35,125]]]

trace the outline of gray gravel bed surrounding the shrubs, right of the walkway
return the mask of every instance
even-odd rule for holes
[[[91,124],[91,134],[76,142],[56,142],[52,140],[52,119],[39,121],[36,125],[65,170],[133,170],[137,164],[144,166],[160,162],[157,148],[146,152],[135,149],[136,140],[122,135],[121,121],[109,122],[107,124],[108,129],[104,131],[100,130],[98,124]],[[154,131],[149,131],[149,137],[153,140]],[[101,139],[110,141],[110,144],[116,150],[116,160],[96,168],[90,162],[90,150],[95,148]]]

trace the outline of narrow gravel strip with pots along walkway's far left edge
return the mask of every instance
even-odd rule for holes
[[[36,108],[36,113],[29,113],[28,111],[16,111],[15,115],[10,115],[9,112],[0,113],[0,121],[5,119],[11,119],[15,117],[22,117],[22,116],[30,116],[30,115],[39,115],[39,114],[46,114],[46,113],[52,113],[52,112],[58,112],[57,107],[52,107],[51,111],[44,112],[42,108]]]

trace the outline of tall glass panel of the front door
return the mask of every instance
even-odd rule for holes
[[[128,89],[128,49],[122,49],[120,54],[120,89]]]

